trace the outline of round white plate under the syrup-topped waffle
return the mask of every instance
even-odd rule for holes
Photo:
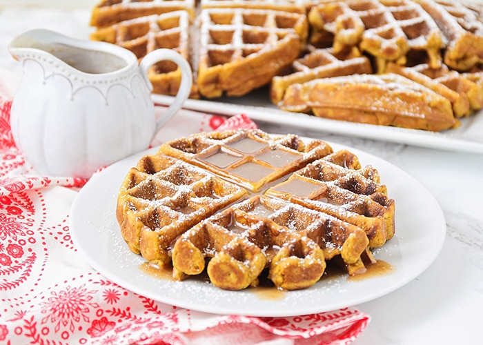
[[[347,148],[332,144],[334,150]],[[195,311],[262,317],[306,315],[333,311],[381,297],[420,275],[437,257],[444,243],[446,222],[434,197],[400,168],[366,152],[348,148],[363,166],[371,164],[395,199],[396,235],[375,258],[393,271],[350,281],[341,275],[321,279],[311,288],[286,291],[280,298],[267,298],[257,289],[221,290],[198,279],[176,282],[145,272],[145,260],[132,253],[121,237],[115,209],[119,186],[129,168],[152,148],[118,161],[95,174],[84,186],[70,210],[72,240],[87,262],[112,282],[159,302]]]

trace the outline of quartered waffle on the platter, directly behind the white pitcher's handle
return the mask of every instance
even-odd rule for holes
[[[128,48],[139,59],[157,48],[174,49],[195,72],[191,97],[213,98],[245,95],[270,83],[299,57],[308,35],[304,7],[291,0],[202,1],[196,22],[193,6],[105,1],[92,12],[97,30],[91,39]],[[154,66],[154,92],[175,95],[180,73],[172,63]]]

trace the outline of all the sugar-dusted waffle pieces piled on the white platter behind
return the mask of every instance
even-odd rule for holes
[[[157,48],[180,52],[194,71],[192,98],[270,85],[267,100],[282,110],[439,131],[482,108],[482,8],[448,0],[118,0],[99,3],[91,23],[92,39],[139,59]],[[404,79],[401,90],[393,93],[396,77],[387,74]],[[331,101],[333,78],[351,75],[372,77],[353,79],[350,98]],[[155,93],[175,95],[180,72],[158,63],[150,80]],[[365,103],[353,106],[355,95]],[[411,108],[415,99],[420,106]]]

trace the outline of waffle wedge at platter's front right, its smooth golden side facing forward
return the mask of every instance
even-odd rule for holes
[[[440,131],[458,121],[448,99],[393,73],[315,79],[293,84],[279,107],[329,119]]]

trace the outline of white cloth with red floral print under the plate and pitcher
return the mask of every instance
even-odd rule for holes
[[[355,308],[297,317],[213,315],[156,302],[110,282],[72,244],[68,212],[84,179],[41,177],[10,132],[0,93],[2,344],[348,344],[369,322]],[[255,128],[248,117],[182,110],[152,142]]]

